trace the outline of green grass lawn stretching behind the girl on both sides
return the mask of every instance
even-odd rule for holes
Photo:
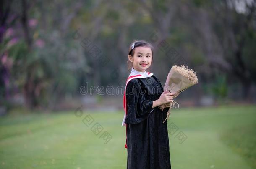
[[[0,168],[125,169],[123,111],[74,112],[1,117]],[[94,119],[88,126],[87,115]],[[97,123],[98,135],[91,130]],[[173,169],[256,168],[256,106],[180,108],[167,123],[178,127],[169,134]],[[104,131],[112,136],[107,143]],[[177,138],[180,131],[187,139]]]

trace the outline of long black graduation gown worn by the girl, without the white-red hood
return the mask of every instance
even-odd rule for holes
[[[154,75],[126,86],[127,169],[171,169],[167,121],[163,123],[169,108],[152,108],[162,92]]]

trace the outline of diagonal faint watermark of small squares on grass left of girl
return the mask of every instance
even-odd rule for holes
[[[78,107],[74,112],[75,116],[78,118],[82,117],[84,114],[81,107],[82,106]],[[99,136],[99,139],[102,139],[104,141],[104,144],[107,144],[112,139],[112,136],[107,131],[102,132],[104,128],[102,127],[101,124],[99,124],[99,122],[95,123],[94,118],[90,114],[87,114],[82,121],[87,127],[90,127],[91,131],[96,136],[102,133]]]

